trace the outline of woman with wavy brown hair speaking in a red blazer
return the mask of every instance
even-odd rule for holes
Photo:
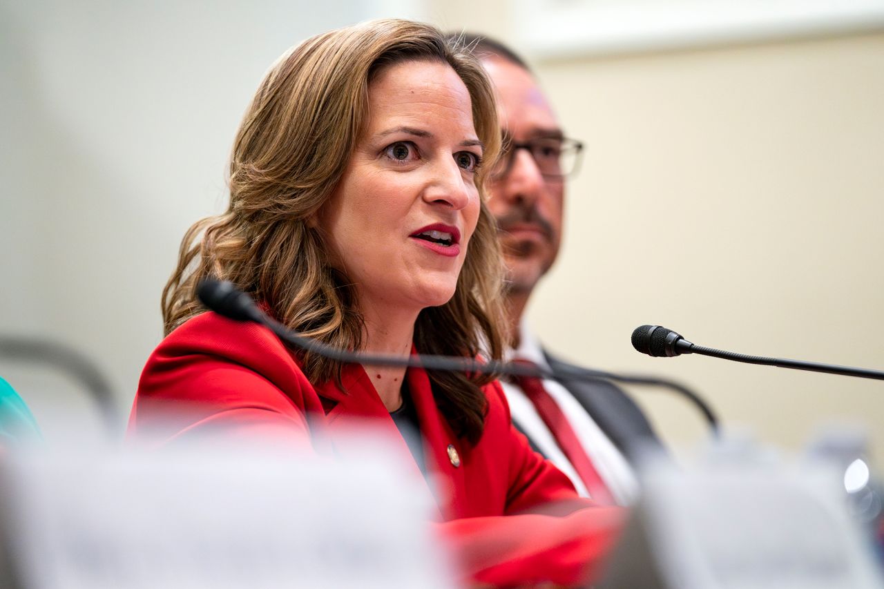
[[[472,578],[582,581],[619,515],[507,516],[577,500],[514,432],[492,379],[287,349],[194,296],[203,277],[227,279],[337,348],[499,358],[500,258],[482,188],[498,149],[481,65],[432,27],[370,22],[281,57],[234,143],[229,209],[184,238],[130,433],[309,444],[317,427],[333,441],[370,417],[402,440],[394,418],[410,413],[423,439],[409,448],[415,469],[447,484],[439,532]]]

